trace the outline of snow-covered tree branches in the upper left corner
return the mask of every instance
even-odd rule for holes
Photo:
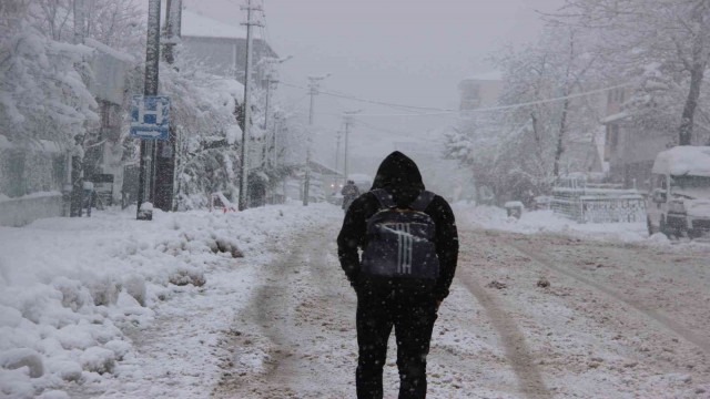
[[[82,80],[90,52],[40,32],[29,17],[34,6],[11,0],[0,7],[0,134],[70,145],[97,119]]]

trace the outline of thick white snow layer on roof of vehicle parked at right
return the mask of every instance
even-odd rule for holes
[[[661,151],[656,156],[652,172],[676,176],[710,176],[710,146],[679,145]]]

